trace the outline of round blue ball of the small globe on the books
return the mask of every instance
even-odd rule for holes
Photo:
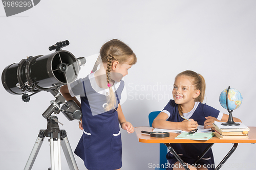
[[[226,103],[226,95],[227,95],[227,89],[223,90],[220,94],[220,104],[223,108],[227,109],[227,103],[228,103],[228,109],[229,110],[235,110],[239,108],[239,106],[242,104],[243,97],[241,93],[234,88],[230,88],[228,91],[228,100]]]

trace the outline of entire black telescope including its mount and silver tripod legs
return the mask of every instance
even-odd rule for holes
[[[54,101],[50,102],[46,111],[42,113],[42,116],[47,119],[47,129],[40,130],[25,170],[32,168],[45,137],[50,138],[51,167],[49,169],[61,169],[61,145],[69,168],[78,170],[67,133],[65,130],[59,129],[58,124],[61,123],[58,122],[56,116],[52,116],[52,113],[59,114],[62,112],[69,120],[74,120],[80,119],[82,115],[79,106],[73,100],[66,102],[59,92],[62,85],[72,83],[77,79],[80,66],[86,63],[84,57],[75,58],[72,53],[61,50],[67,45],[69,45],[68,40],[59,41],[49,47],[50,51],[56,50],[54,53],[27,57],[19,63],[8,65],[2,73],[2,83],[6,91],[11,94],[22,94],[24,102],[29,102],[30,96],[40,91],[50,92],[55,98]],[[29,95],[26,92],[32,94]],[[63,104],[62,107],[60,107],[61,104]]]

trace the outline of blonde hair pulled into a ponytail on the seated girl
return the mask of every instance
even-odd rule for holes
[[[192,80],[191,83],[194,85],[194,89],[200,90],[200,94],[195,99],[195,102],[202,103],[204,101],[205,89],[206,89],[206,83],[205,83],[204,77],[200,74],[197,74],[197,72],[191,71],[191,70],[186,70],[186,71],[181,72],[180,74],[178,74],[175,77],[175,80],[179,76],[187,76],[187,77],[191,78],[191,80]],[[181,105],[178,105],[178,110],[179,110],[179,114],[183,115]]]

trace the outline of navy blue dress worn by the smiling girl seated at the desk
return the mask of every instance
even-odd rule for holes
[[[170,122],[182,122],[184,120],[179,115],[178,105],[174,100],[170,100],[163,110],[167,110],[170,113],[170,116],[167,119]],[[216,110],[206,104],[199,103],[195,112],[189,118],[193,118],[198,122],[198,125],[204,125],[206,120],[205,117],[212,116],[217,118],[219,113],[219,110]],[[171,143],[171,145],[184,162],[193,165],[197,158],[208,147],[209,143]],[[172,170],[172,165],[174,165],[178,160],[170,152],[167,153],[166,158],[169,163],[168,168],[166,169]],[[215,163],[212,150],[210,149],[197,164],[205,165],[209,170],[214,169]]]

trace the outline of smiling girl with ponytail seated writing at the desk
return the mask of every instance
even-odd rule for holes
[[[152,126],[161,129],[191,131],[197,129],[198,125],[212,128],[214,121],[226,122],[228,120],[227,114],[202,104],[205,88],[203,76],[196,72],[186,70],[178,74],[173,88],[174,100],[169,101],[162,112],[154,119]],[[191,121],[184,120],[181,116]],[[233,119],[235,122],[241,122],[236,117],[233,117]],[[208,143],[173,143],[172,147],[187,163],[189,169],[214,169],[214,156],[211,149],[196,165],[193,165],[208,147]],[[168,152],[166,158],[169,163],[168,170],[184,169],[172,153]]]

